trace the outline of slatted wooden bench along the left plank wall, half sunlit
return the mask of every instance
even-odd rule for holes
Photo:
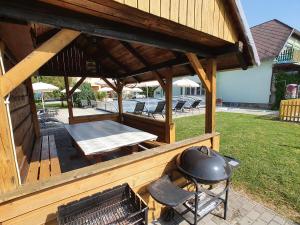
[[[45,180],[61,174],[54,135],[37,139],[33,148],[26,183]]]

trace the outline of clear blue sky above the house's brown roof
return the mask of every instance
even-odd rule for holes
[[[278,19],[300,31],[300,0],[241,0],[249,26]]]

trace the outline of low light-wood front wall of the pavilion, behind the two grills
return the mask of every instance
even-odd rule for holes
[[[204,134],[22,185],[0,195],[0,224],[57,224],[58,206],[123,183],[147,203],[149,220],[157,219],[162,205],[151,198],[148,185],[173,171],[177,155],[186,148],[215,145],[214,149],[219,150],[219,139],[218,133]]]

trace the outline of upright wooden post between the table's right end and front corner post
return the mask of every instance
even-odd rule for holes
[[[175,142],[175,124],[172,121],[172,98],[173,98],[173,83],[172,83],[173,71],[169,69],[166,76],[165,86],[165,98],[166,98],[166,143]]]

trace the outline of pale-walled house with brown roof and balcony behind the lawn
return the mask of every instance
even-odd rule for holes
[[[220,72],[217,97],[231,105],[268,108],[275,100],[275,72],[300,68],[300,32],[278,20],[254,26],[251,32],[261,65]]]

